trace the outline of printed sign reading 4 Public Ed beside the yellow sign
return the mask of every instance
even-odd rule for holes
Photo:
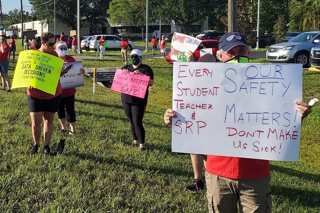
[[[84,85],[83,75],[79,72],[79,69],[82,68],[82,61],[63,63],[63,68],[70,64],[72,64],[73,67],[67,74],[60,77],[62,90]]]

